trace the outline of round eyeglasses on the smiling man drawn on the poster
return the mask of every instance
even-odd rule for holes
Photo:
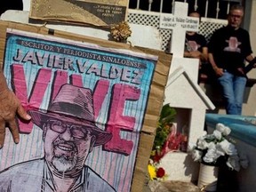
[[[67,128],[69,128],[71,135],[76,139],[86,139],[87,136],[91,135],[91,132],[84,129],[82,125],[67,124],[60,120],[48,120],[47,123],[52,131],[59,132],[60,134],[66,132]]]

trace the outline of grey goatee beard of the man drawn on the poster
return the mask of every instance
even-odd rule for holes
[[[68,159],[67,156],[53,156],[52,158],[52,165],[56,168],[58,172],[69,172],[73,170],[76,166],[77,157],[76,154],[73,156],[72,159]]]

